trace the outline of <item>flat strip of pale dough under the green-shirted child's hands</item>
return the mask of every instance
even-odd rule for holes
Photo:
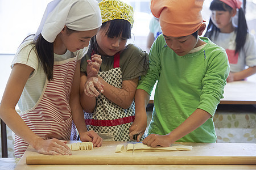
[[[170,147],[150,147],[147,145],[144,145],[143,143],[128,143],[126,152],[133,152],[133,146],[134,146],[134,152],[164,152],[164,151],[191,151],[192,146],[185,146],[180,144],[172,144]]]

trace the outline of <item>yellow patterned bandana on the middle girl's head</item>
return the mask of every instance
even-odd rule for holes
[[[104,0],[98,3],[101,10],[102,23],[114,19],[124,19],[131,24],[133,28],[133,7],[127,3],[118,0]]]

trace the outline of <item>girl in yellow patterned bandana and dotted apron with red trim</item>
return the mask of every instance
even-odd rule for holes
[[[82,59],[80,102],[89,130],[96,131],[105,141],[129,141],[130,127],[147,125],[145,119],[142,124],[141,118],[134,116],[134,95],[139,76],[146,74],[148,57],[137,46],[126,45],[134,23],[133,7],[116,0],[101,1],[99,6],[102,26]],[[90,74],[86,60],[90,61],[92,54],[101,55],[100,71],[98,76],[86,77]],[[102,91],[98,88],[101,94],[94,86],[84,88],[92,82],[103,84]]]

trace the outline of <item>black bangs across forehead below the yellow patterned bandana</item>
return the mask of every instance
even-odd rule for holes
[[[103,23],[102,26],[105,27],[107,23],[109,23],[109,29],[106,32],[108,37],[119,37],[122,33],[122,38],[131,38],[131,24],[127,20],[114,19]]]

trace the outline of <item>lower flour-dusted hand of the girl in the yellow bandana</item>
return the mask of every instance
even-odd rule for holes
[[[84,93],[90,97],[97,97],[100,95],[100,92],[104,92],[103,87],[104,85],[100,82],[100,80],[97,77],[92,76],[88,78],[85,83]]]

